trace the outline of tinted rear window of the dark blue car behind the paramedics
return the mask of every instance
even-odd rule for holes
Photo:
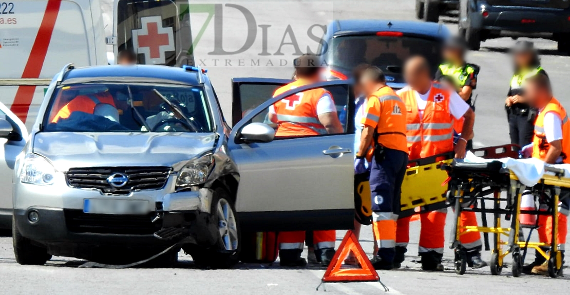
[[[377,35],[336,37],[329,43],[326,59],[329,66],[344,71],[368,63],[380,67],[386,74],[401,74],[404,61],[414,55],[425,56],[435,73],[441,62],[441,42]]]

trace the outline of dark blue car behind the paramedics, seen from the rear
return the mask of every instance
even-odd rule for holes
[[[385,72],[390,87],[402,88],[404,61],[425,56],[435,73],[448,36],[447,27],[437,23],[346,19],[329,23],[319,54],[329,67],[329,80],[351,78],[353,68],[368,63]]]

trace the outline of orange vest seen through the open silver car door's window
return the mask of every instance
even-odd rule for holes
[[[275,90],[273,97],[283,92],[310,84],[299,79]],[[317,103],[324,94],[331,95],[323,88],[299,92],[276,102],[275,108],[277,132],[275,136],[307,136],[327,134],[319,121]],[[332,98],[332,95],[331,95]]]

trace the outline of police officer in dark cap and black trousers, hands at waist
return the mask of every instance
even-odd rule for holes
[[[523,82],[535,75],[546,75],[546,71],[540,66],[540,58],[532,42],[516,42],[512,49],[512,57],[515,74],[508,88],[505,106],[511,143],[524,147],[532,142],[537,111],[524,102]]]

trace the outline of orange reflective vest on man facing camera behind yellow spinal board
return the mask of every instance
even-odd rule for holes
[[[397,93],[408,111],[406,135],[410,160],[453,151],[454,118],[449,108],[450,91],[439,83],[432,83],[422,118],[416,100],[417,92],[404,87]]]

